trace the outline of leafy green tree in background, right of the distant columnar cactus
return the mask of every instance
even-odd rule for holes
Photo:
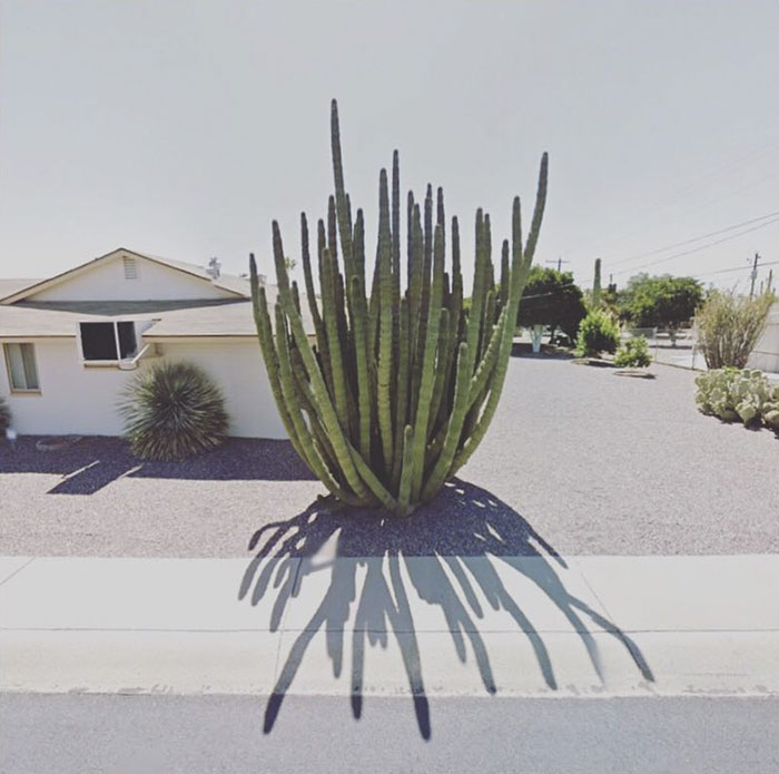
[[[637,274],[619,296],[619,313],[635,327],[667,327],[676,346],[679,325],[694,315],[702,301],[698,280]]]

